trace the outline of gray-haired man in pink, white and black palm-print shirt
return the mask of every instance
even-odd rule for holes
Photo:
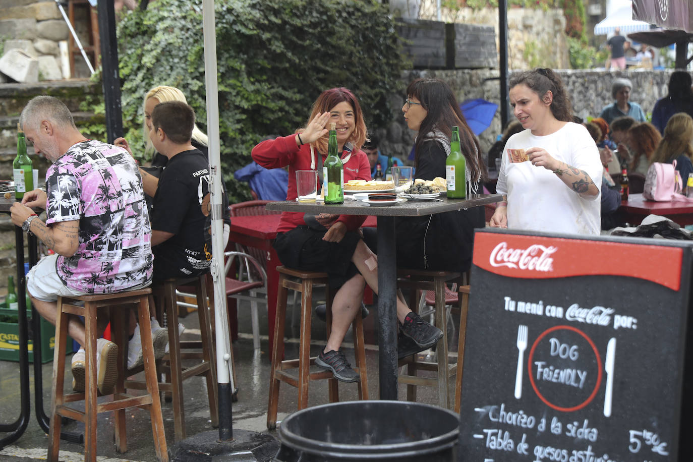
[[[55,324],[58,296],[103,294],[145,287],[152,278],[151,229],[137,165],[123,148],[86,139],[69,109],[37,96],[19,118],[36,154],[51,161],[46,192],[12,204],[12,222],[51,250],[27,275],[26,288],[42,317]],[[47,194],[46,194],[47,193]],[[46,222],[32,208],[45,208]],[[107,319],[98,319],[105,328]],[[70,316],[69,335],[82,346],[72,359],[73,389],[85,389],[85,328]],[[118,348],[96,342],[97,386],[112,393]]]

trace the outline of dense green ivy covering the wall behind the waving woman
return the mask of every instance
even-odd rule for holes
[[[389,96],[403,91],[397,35],[373,0],[218,0],[216,40],[222,167],[231,202],[249,199],[233,172],[270,134],[304,125],[324,89],[358,96],[369,127],[390,122]],[[160,0],[118,28],[125,137],[143,155],[142,103],[157,85],[183,91],[207,125],[201,0]],[[147,159],[144,159],[147,160]]]

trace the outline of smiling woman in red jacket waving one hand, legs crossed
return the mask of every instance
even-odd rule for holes
[[[296,170],[318,170],[327,157],[328,128],[336,123],[337,152],[344,163],[344,181],[371,179],[366,154],[360,150],[366,139],[366,124],[356,96],[346,88],[333,88],[318,96],[305,127],[288,136],[258,144],[253,160],[265,168],[289,168],[287,200],[297,197]],[[310,215],[284,212],[277,227],[274,249],[283,265],[304,271],[326,272],[331,290],[332,330],[327,344],[315,360],[332,371],[337,380],[356,382],[359,375],[340,349],[349,325],[361,308],[365,284],[378,293],[377,257],[361,239],[364,216]],[[397,301],[397,318],[406,335],[430,348],[443,332],[424,322],[402,301]]]

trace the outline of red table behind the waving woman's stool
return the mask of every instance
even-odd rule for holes
[[[229,245],[232,243],[262,249],[267,254],[267,325],[270,334],[270,351],[274,340],[274,316],[277,312],[277,292],[279,273],[277,267],[281,266],[279,256],[272,247],[274,238],[277,238],[277,226],[281,215],[247,215],[231,217],[231,232],[229,233]],[[376,217],[369,216],[363,226],[376,226]],[[231,245],[231,247],[234,247]]]

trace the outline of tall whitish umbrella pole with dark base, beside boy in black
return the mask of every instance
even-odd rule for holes
[[[207,87],[207,136],[209,139],[209,176],[211,192],[212,265],[214,281],[214,319],[216,322],[216,359],[219,393],[219,439],[227,441],[233,437],[231,425],[231,396],[234,376],[231,368],[231,340],[226,308],[224,275],[222,177],[219,144],[219,99],[216,66],[216,26],[214,0],[202,0],[202,26],[204,30],[204,82]]]

